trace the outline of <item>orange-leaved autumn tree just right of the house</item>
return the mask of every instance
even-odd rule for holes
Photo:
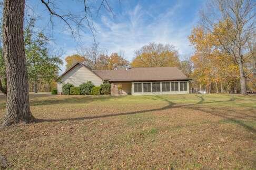
[[[194,28],[189,36],[195,49],[191,56],[192,83],[196,84],[196,91],[237,93],[240,91],[239,65],[234,62],[232,55],[218,48],[220,42],[215,37],[216,31],[223,30],[216,26],[215,34],[212,34],[199,26]],[[243,62],[245,66],[249,66],[251,63],[250,60]],[[244,73],[248,78],[252,76],[251,69],[248,67],[244,67]],[[251,88],[253,89],[253,87]]]

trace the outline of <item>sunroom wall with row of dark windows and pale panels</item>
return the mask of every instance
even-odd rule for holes
[[[186,94],[189,81],[132,82],[132,95]]]

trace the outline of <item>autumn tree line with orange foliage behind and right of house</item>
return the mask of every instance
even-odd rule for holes
[[[222,23],[221,23],[222,24]],[[217,26],[216,26],[217,27]],[[215,28],[216,31],[220,28]],[[181,59],[174,46],[150,42],[135,51],[136,56],[129,62],[117,53],[110,56],[99,53],[92,57],[87,55],[67,56],[66,69],[76,62],[83,62],[95,70],[114,69],[131,65],[132,67],[179,67],[187,77],[191,78],[190,90],[192,93],[205,91],[207,93],[240,93],[240,69],[234,58],[223,50],[217,49],[216,38],[210,31],[201,25],[195,27],[188,37],[194,52],[191,56]],[[255,48],[254,48],[255,50]],[[92,60],[92,58],[95,58]],[[246,55],[243,70],[247,78],[247,91],[255,91],[255,57]],[[95,62],[93,62],[95,61]]]

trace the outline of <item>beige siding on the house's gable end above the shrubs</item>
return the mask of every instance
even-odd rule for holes
[[[78,87],[80,84],[92,81],[95,86],[100,86],[102,84],[102,79],[95,75],[94,72],[83,67],[81,65],[75,66],[73,69],[68,71],[66,75],[64,75],[61,79],[62,82],[57,83],[58,93],[62,92],[62,84],[63,83],[71,83],[74,86]]]

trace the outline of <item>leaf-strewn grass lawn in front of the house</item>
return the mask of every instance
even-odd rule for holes
[[[31,111],[0,131],[10,168],[256,168],[256,95],[33,94]]]

